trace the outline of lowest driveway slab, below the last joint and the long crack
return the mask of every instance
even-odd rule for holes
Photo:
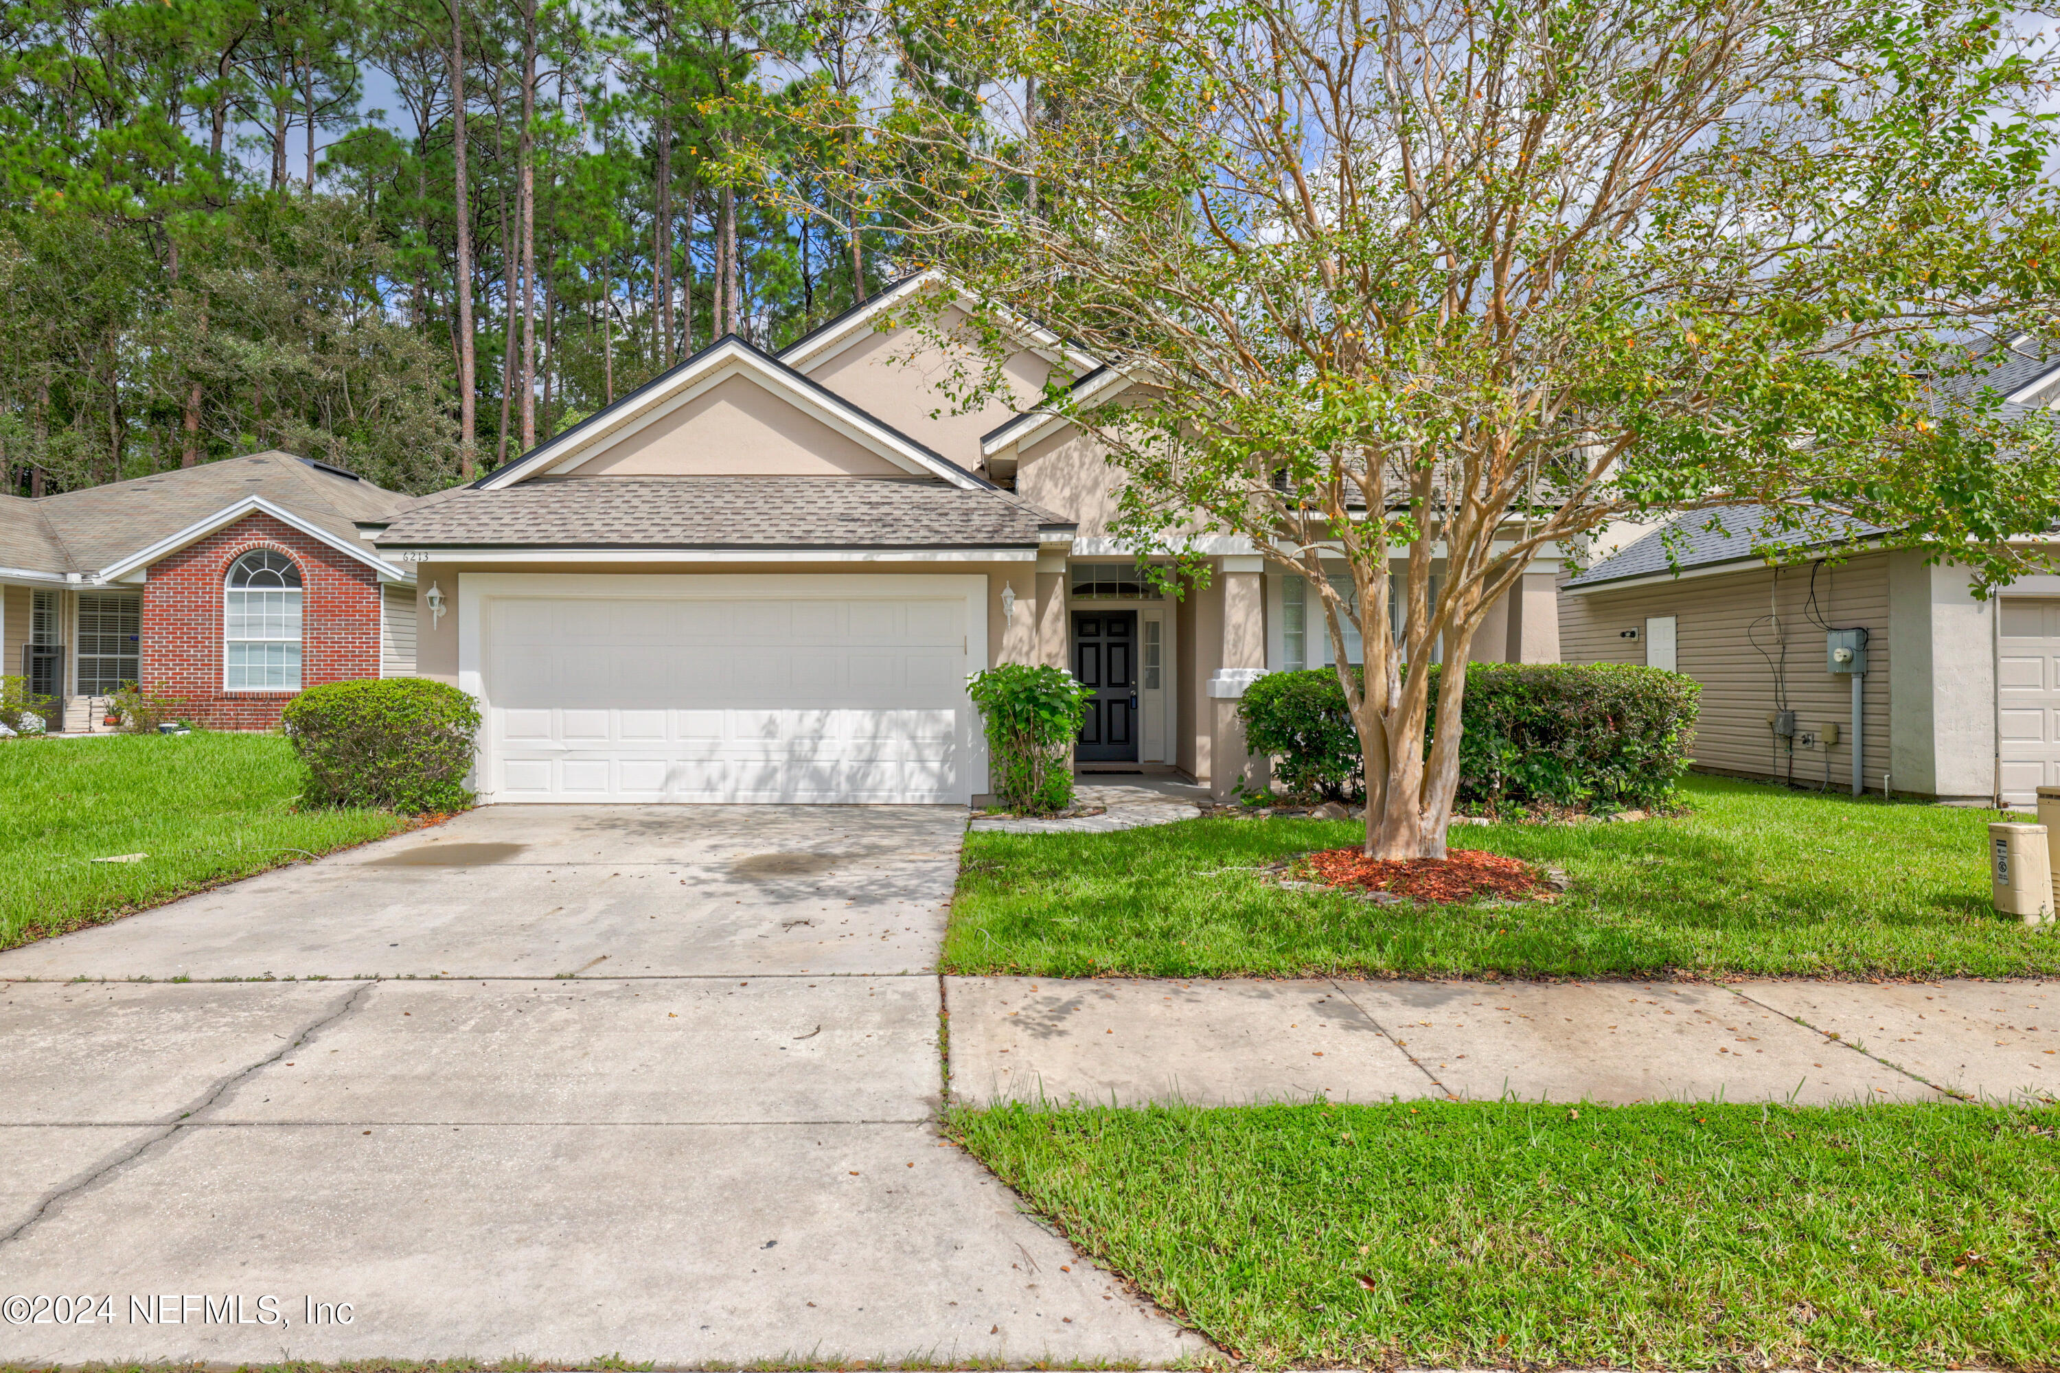
[[[185,1126],[0,1247],[0,1291],[274,1295],[290,1322],[0,1328],[29,1363],[1201,1348],[927,1126]]]

